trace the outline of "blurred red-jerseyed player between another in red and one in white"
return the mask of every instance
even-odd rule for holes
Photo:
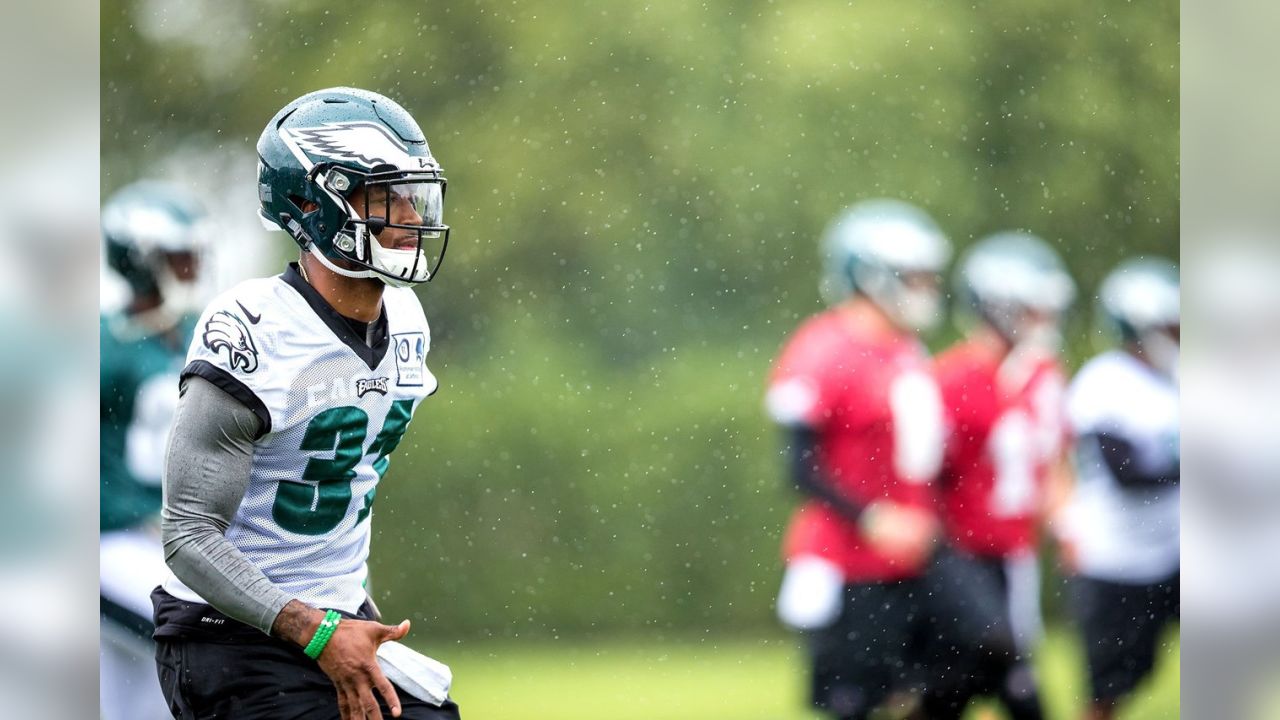
[[[1060,322],[1075,283],[1041,238],[1005,232],[956,268],[965,337],[934,366],[950,434],[938,475],[948,551],[931,568],[938,607],[929,717],[996,694],[1015,719],[1042,716],[1028,661],[1039,635],[1037,530],[1044,483],[1065,447]]]

